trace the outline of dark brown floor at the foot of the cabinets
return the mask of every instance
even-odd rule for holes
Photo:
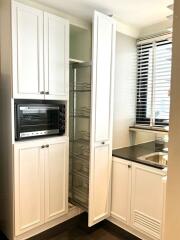
[[[0,234],[0,240],[5,240]],[[87,216],[69,220],[29,240],[139,240],[108,221],[87,227]]]

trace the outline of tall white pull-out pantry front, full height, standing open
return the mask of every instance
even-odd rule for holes
[[[114,20],[95,11],[89,226],[93,226],[110,215],[115,39],[116,24]]]

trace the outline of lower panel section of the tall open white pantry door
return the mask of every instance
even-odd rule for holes
[[[93,154],[92,154],[93,155]],[[90,163],[89,226],[110,216],[112,151],[109,143],[95,146]]]

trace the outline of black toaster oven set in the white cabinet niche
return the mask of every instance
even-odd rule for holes
[[[15,103],[15,140],[64,135],[65,104]]]

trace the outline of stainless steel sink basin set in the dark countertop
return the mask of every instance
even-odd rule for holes
[[[160,165],[167,166],[168,154],[164,152],[155,152],[139,157],[140,160],[157,163]]]

